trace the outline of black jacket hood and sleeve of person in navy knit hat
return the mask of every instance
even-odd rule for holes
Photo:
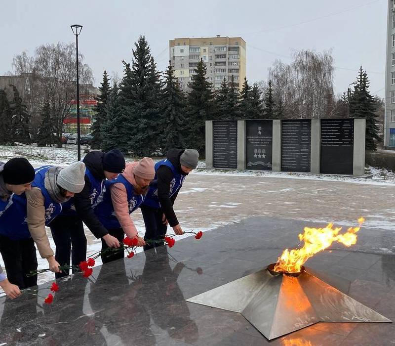
[[[92,150],[87,153],[82,160],[86,168],[89,169],[92,175],[98,180],[106,179],[103,169],[103,157],[104,153],[102,151]],[[101,238],[105,236],[108,231],[93,212],[92,205],[90,203],[90,188],[91,182],[89,177],[85,174],[85,186],[80,193],[74,195],[74,206],[77,214],[93,235],[96,238]]]

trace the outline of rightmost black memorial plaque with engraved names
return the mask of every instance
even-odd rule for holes
[[[353,174],[354,119],[321,120],[321,173]]]

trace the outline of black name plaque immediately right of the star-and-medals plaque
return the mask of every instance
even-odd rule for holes
[[[281,171],[310,172],[311,120],[281,121]]]

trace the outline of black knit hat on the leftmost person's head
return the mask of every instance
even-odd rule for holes
[[[28,160],[23,157],[17,157],[5,163],[2,175],[5,183],[22,185],[32,182],[36,173]]]

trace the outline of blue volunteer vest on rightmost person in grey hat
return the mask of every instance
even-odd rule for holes
[[[184,182],[186,175],[178,172],[178,170],[173,166],[173,164],[169,160],[165,159],[158,161],[155,164],[155,178],[150,184],[150,189],[148,190],[148,193],[143,203],[144,206],[148,206],[151,208],[160,208],[160,203],[158,199],[158,177],[157,177],[157,172],[160,166],[167,166],[171,169],[171,172],[173,172],[173,179],[170,182],[169,197],[173,196],[181,188],[182,183]]]

